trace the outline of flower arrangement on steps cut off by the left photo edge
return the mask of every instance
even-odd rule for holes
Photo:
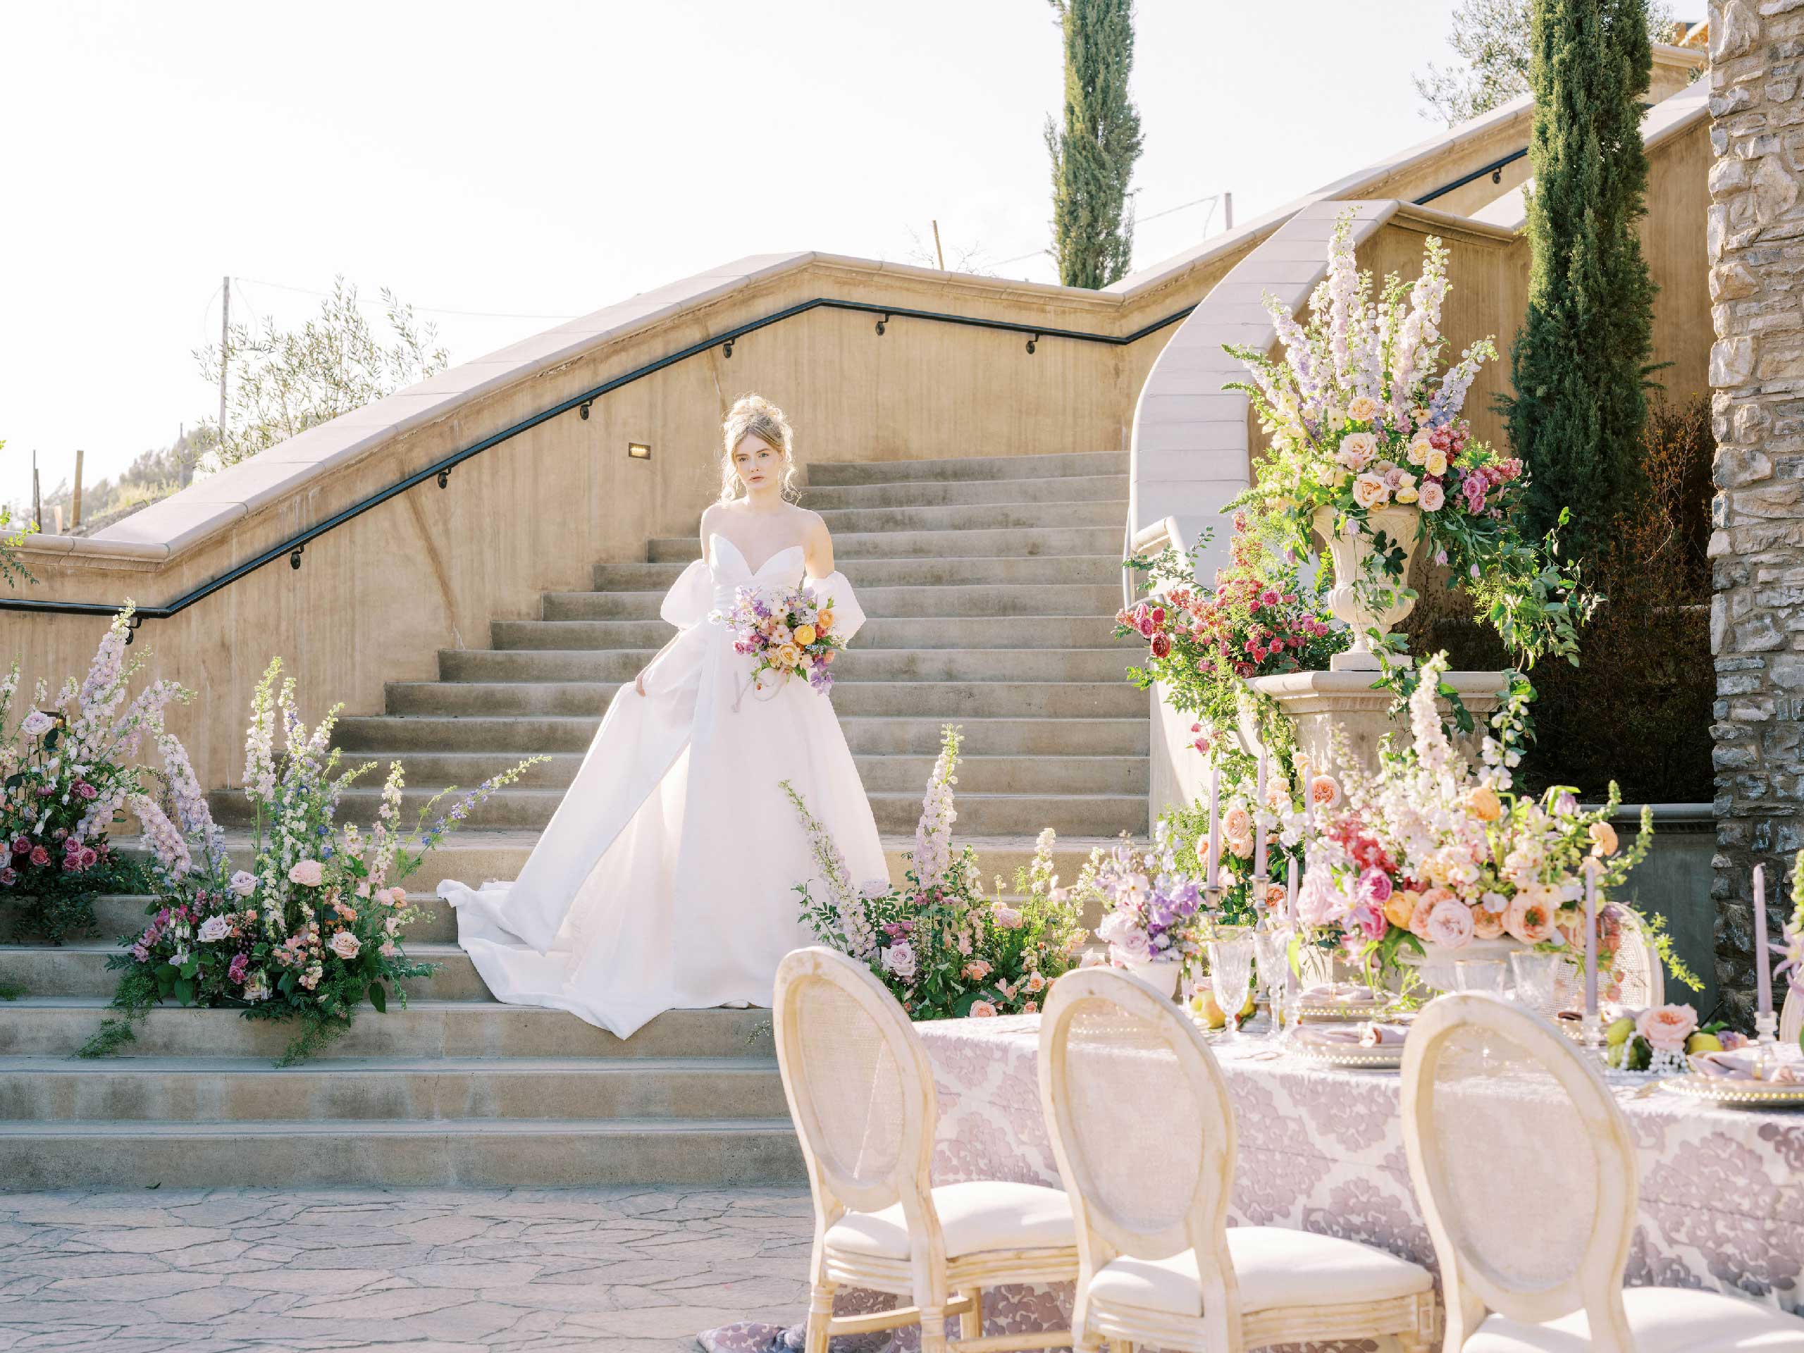
[[[87,676],[70,676],[52,700],[38,684],[32,709],[13,723],[18,664],[0,680],[0,898],[11,902],[14,925],[52,943],[92,933],[94,898],[141,886],[139,870],[108,841],[124,806],[146,790],[135,763],[146,738],[162,743],[162,714],[189,693],[175,682],[152,682],[128,698],[132,680],[150,658],[126,660],[132,608],[121,610]]]

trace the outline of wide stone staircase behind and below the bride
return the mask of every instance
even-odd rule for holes
[[[913,846],[940,725],[965,727],[958,837],[1012,877],[1043,826],[1075,877],[1097,841],[1146,832],[1147,704],[1111,639],[1126,455],[812,465],[805,502],[833,530],[870,615],[833,705],[891,875]],[[410,880],[511,879],[575,774],[608,700],[669,637],[657,619],[693,538],[599,565],[592,592],[498,621],[489,649],[440,653],[440,680],[388,687],[348,718],[352,759],[400,756],[420,787],[550,759],[494,796]],[[352,790],[366,819],[375,788]],[[428,788],[410,790],[410,810]],[[222,823],[238,794],[215,796]],[[247,850],[247,842],[242,842]],[[408,1008],[274,1070],[280,1025],[159,1008],[124,1055],[76,1061],[112,992],[112,936],[143,898],[105,898],[106,942],[0,945],[0,1189],[170,1183],[738,1183],[799,1180],[765,1010],[673,1010],[621,1041],[556,1010],[498,1005],[456,949],[451,909],[410,934],[438,971]]]

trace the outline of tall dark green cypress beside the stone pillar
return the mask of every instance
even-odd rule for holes
[[[1647,0],[1535,0],[1528,81],[1528,316],[1510,348],[1510,442],[1533,476],[1528,527],[1571,509],[1566,552],[1589,557],[1642,478],[1654,283],[1642,96]]]

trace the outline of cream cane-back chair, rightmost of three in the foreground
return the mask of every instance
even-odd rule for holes
[[[1432,1001],[1404,1045],[1404,1146],[1441,1265],[1445,1353],[1799,1353],[1804,1321],[1622,1286],[1629,1122],[1598,1068],[1496,996]]]

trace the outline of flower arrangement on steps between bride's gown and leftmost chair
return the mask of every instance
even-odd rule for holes
[[[900,888],[886,879],[855,886],[832,835],[783,781],[821,884],[819,897],[810,882],[796,884],[801,915],[821,943],[868,963],[911,1019],[1034,1014],[1046,987],[1077,963],[1084,931],[1054,873],[1052,828],[1039,833],[1032,861],[1016,870],[1017,906],[1003,900],[1001,879],[998,897],[983,897],[969,844],[953,855],[960,747],[960,729],[947,723]]]

